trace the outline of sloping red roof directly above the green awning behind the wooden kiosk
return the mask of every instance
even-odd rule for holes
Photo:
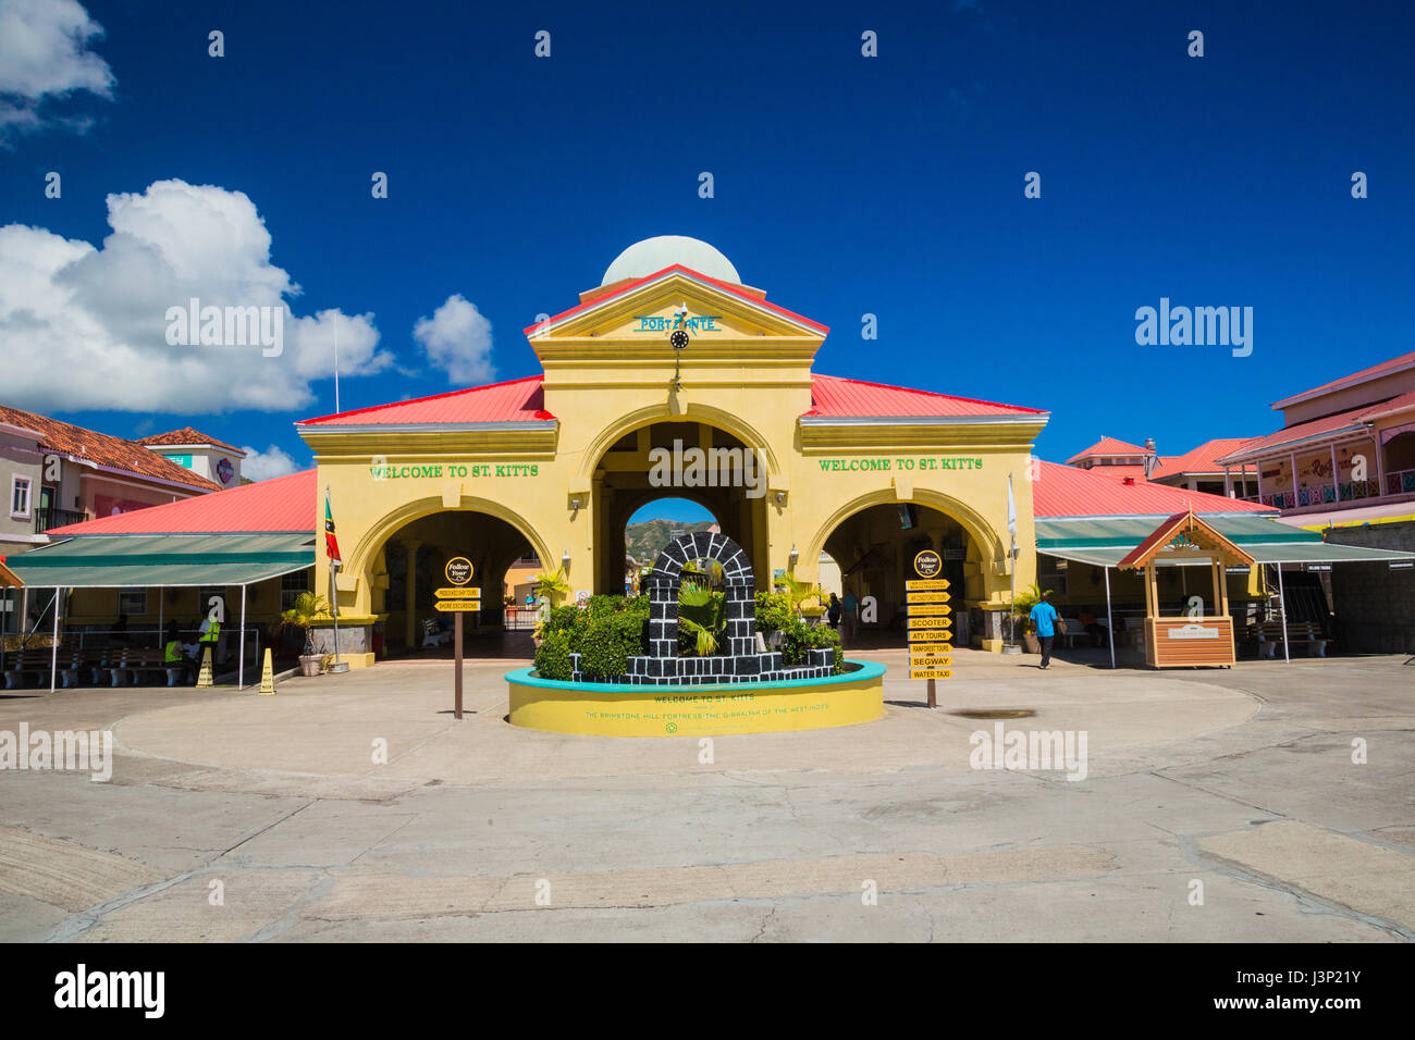
[[[1039,463],[1036,516],[1172,516],[1176,512],[1276,512],[1271,505],[1138,480],[1133,484],[1060,463]]]

